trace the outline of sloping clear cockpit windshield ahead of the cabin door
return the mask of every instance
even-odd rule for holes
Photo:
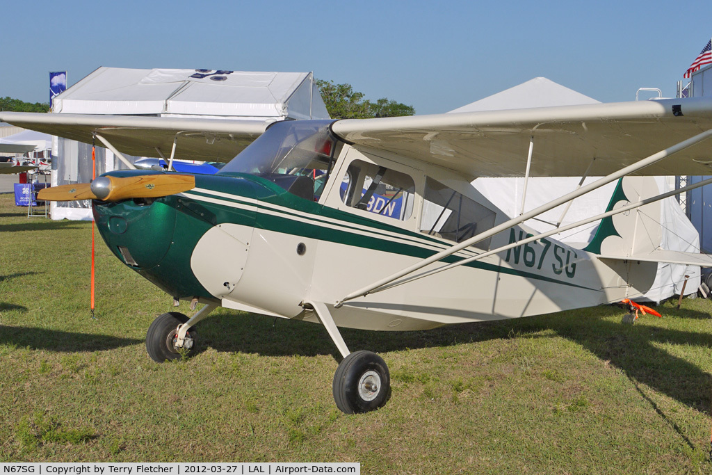
[[[253,174],[297,196],[318,199],[334,160],[336,143],[329,132],[332,122],[276,122],[218,174]]]

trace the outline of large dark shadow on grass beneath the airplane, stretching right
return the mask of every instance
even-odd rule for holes
[[[652,387],[689,407],[710,409],[712,377],[696,365],[671,355],[656,345],[693,345],[712,347],[712,334],[671,330],[646,325],[619,323],[625,310],[614,306],[600,309],[596,315],[571,318],[571,313],[485,323],[451,325],[417,332],[372,332],[342,328],[350,350],[387,353],[417,348],[445,347],[501,338],[539,338],[546,330],[567,338],[603,361],[618,367],[634,381]],[[668,318],[707,318],[696,310],[665,310]],[[614,317],[611,321],[609,318]],[[645,318],[655,318],[646,316]],[[258,315],[216,315],[197,327],[199,348],[241,351],[269,356],[333,355],[340,361],[330,337],[321,325]],[[546,337],[548,338],[548,337]]]

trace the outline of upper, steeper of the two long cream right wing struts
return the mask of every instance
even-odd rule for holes
[[[702,142],[703,140],[708,139],[709,137],[712,137],[712,130],[705,130],[704,132],[701,132],[698,135],[695,135],[694,137],[690,137],[689,139],[686,139],[686,140],[683,140],[682,142],[676,143],[675,145],[672,145],[671,147],[668,147],[665,150],[661,150],[660,152],[654,153],[653,155],[650,155],[649,157],[639,160],[638,162],[635,162],[632,165],[629,165],[627,167],[619,169],[617,172],[613,172],[612,174],[609,174],[606,177],[597,179],[595,182],[593,182],[591,184],[587,184],[585,187],[581,187],[577,190],[574,190],[573,192],[567,193],[560,198],[554,199],[553,201],[548,202],[547,204],[543,204],[540,207],[531,210],[530,212],[526,212],[525,214],[520,214],[520,216],[510,219],[509,221],[505,221],[498,226],[494,226],[493,228],[488,229],[488,231],[484,231],[480,234],[477,234],[476,236],[473,236],[470,239],[467,239],[466,241],[462,241],[459,244],[451,246],[449,249],[440,251],[439,253],[434,254],[427,259],[423,259],[422,261],[420,261],[418,263],[414,263],[412,266],[402,269],[402,271],[398,271],[397,273],[394,273],[391,276],[382,278],[381,280],[379,280],[375,283],[372,283],[369,286],[366,286],[366,287],[361,288],[355,292],[352,292],[352,293],[348,294],[347,296],[345,296],[344,298],[342,298],[340,301],[337,301],[335,306],[336,306],[336,308],[339,308],[347,301],[353,300],[354,298],[357,298],[357,297],[366,296],[367,294],[371,293],[372,291],[375,291],[376,289],[378,289],[382,286],[392,283],[393,281],[396,281],[397,279],[399,279],[403,276],[407,276],[409,273],[412,273],[412,272],[417,271],[421,268],[424,268],[425,266],[428,266],[431,263],[440,261],[441,259],[444,259],[447,256],[451,256],[452,254],[455,254],[456,252],[461,251],[462,249],[465,249],[468,246],[477,244],[478,242],[483,241],[491,236],[494,236],[495,234],[498,234],[501,231],[506,231],[507,229],[510,229],[512,226],[515,226],[517,224],[522,223],[523,221],[526,221],[527,219],[531,219],[531,218],[538,216],[544,212],[547,212],[548,210],[553,209],[553,208],[559,206],[560,204],[564,204],[565,202],[568,202],[572,199],[580,197],[583,194],[587,194],[588,192],[591,192],[594,189],[602,187],[604,184],[613,182],[619,178],[626,176],[627,174],[637,172],[639,169],[642,169],[642,168],[652,165],[656,162],[659,162],[660,160],[663,160],[664,158],[669,157],[670,155],[672,155],[676,152],[684,150],[687,147],[696,145],[699,142]]]

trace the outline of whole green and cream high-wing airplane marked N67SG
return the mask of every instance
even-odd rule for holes
[[[343,356],[333,395],[347,413],[382,407],[389,372],[375,353],[352,353],[339,327],[423,330],[597,306],[642,296],[657,262],[712,265],[659,249],[659,199],[689,187],[659,194],[646,177],[712,174],[712,98],[269,125],[0,120],[96,138],[119,156],[234,157],[214,175],[129,169],[40,198],[92,199],[118,259],[176,300],[204,304],[192,318],[170,312],[152,323],[153,360],[192,348],[192,326],[219,306],[321,323]],[[603,178],[514,218],[471,185],[562,176]],[[544,234],[523,224],[615,181],[604,214]],[[599,220],[585,249],[553,237]]]

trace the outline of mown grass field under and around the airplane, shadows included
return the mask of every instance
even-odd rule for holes
[[[614,306],[413,333],[343,330],[392,375],[347,416],[319,325],[229,310],[199,351],[144,347],[172,298],[90,223],[27,219],[0,194],[0,461],[357,461],[364,474],[712,473],[710,301],[621,325]],[[180,311],[190,313],[187,304]]]

